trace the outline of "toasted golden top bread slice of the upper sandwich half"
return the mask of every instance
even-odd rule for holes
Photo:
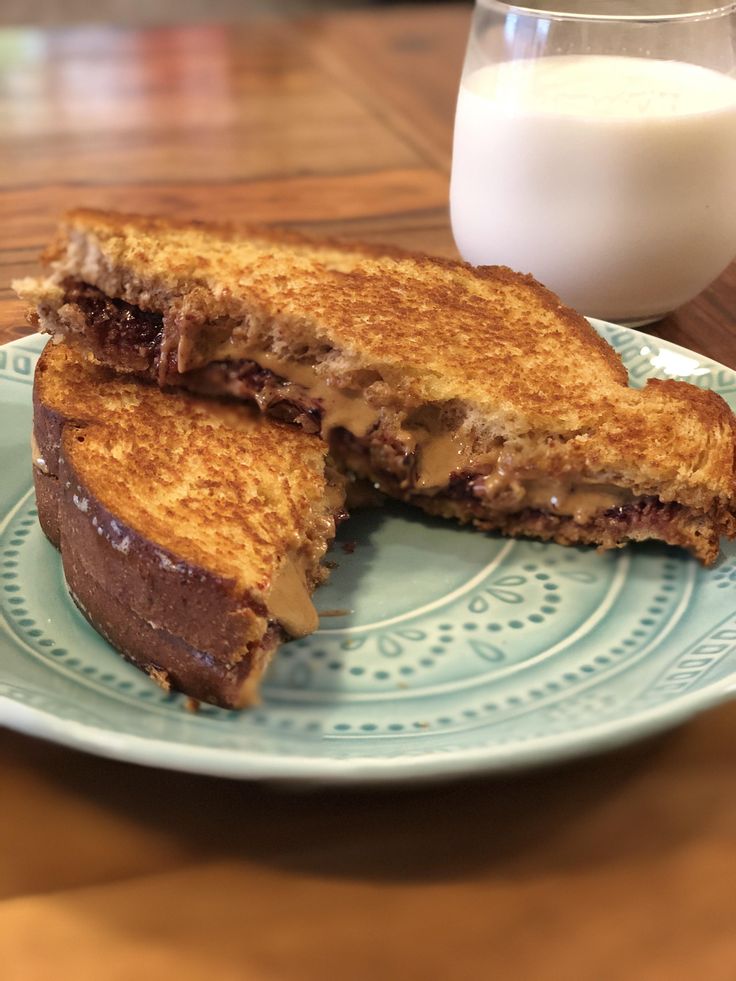
[[[53,332],[77,330],[63,302],[73,276],[160,312],[161,364],[182,378],[244,346],[307,359],[381,412],[432,406],[480,456],[501,440],[521,473],[572,474],[694,509],[707,527],[689,547],[704,561],[719,535],[736,533],[726,403],[674,381],[630,388],[610,346],[529,276],[268,228],[92,211],[68,216],[48,259],[50,277],[21,292]]]

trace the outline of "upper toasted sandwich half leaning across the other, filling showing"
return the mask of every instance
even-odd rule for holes
[[[532,277],[398,249],[75,211],[35,321],[117,372],[254,403],[389,496],[481,530],[715,561],[736,534],[736,422],[631,388]]]

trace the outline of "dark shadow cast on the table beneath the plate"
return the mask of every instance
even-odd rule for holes
[[[44,785],[163,832],[198,862],[428,883],[599,868],[698,835],[713,802],[692,793],[692,780],[680,790],[679,767],[668,766],[686,732],[524,775],[372,790],[231,782],[2,738]],[[55,833],[63,847],[63,829]]]

